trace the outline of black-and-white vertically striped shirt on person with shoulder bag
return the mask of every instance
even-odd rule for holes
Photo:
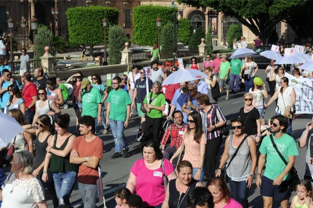
[[[216,105],[211,104],[211,108],[208,112],[204,112],[202,109],[198,109],[201,118],[202,118],[202,125],[203,125],[203,132],[207,140],[214,139],[219,137],[222,133],[221,129],[214,129],[213,131],[208,131],[207,128],[210,125],[217,124],[219,121],[224,121],[226,123],[226,118],[222,112],[222,109]]]

